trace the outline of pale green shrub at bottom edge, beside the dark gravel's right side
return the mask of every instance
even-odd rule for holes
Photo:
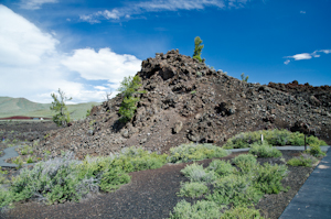
[[[170,219],[218,219],[221,217],[220,207],[207,200],[197,200],[194,205],[181,200],[170,212]]]

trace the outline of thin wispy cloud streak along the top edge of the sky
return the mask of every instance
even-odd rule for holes
[[[130,19],[135,14],[146,12],[179,11],[179,10],[203,10],[206,7],[243,8],[248,0],[150,0],[130,3],[127,7],[113,9],[110,11],[97,11],[92,14],[81,15],[82,21],[90,24],[99,23],[100,20],[119,20],[120,18]]]

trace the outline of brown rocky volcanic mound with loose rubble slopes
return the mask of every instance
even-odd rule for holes
[[[51,131],[35,150],[49,150],[54,156],[61,150],[72,150],[79,158],[131,145],[161,153],[185,142],[222,145],[239,132],[291,129],[296,123],[308,125],[311,133],[330,144],[328,97],[289,91],[276,84],[241,81],[174,50],[143,61],[137,74],[147,92],[138,95],[131,122],[118,122],[119,95],[94,107],[87,119]]]

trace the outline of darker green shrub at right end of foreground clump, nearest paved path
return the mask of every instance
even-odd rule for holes
[[[285,190],[281,186],[281,179],[287,175],[286,165],[257,165],[255,168],[254,186],[264,194],[278,194]]]

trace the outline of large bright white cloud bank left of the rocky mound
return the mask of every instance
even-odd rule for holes
[[[105,90],[116,89],[125,76],[140,69],[138,58],[110,48],[62,54],[54,37],[0,4],[1,96],[51,102],[51,94],[61,88],[72,102],[103,101]]]

